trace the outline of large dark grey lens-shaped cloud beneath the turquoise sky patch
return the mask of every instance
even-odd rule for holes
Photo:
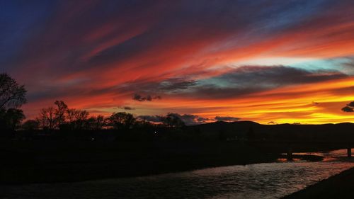
[[[280,86],[309,84],[342,79],[347,75],[336,71],[307,71],[292,67],[247,66],[227,74],[198,81],[191,92],[200,98],[229,98],[275,89]]]

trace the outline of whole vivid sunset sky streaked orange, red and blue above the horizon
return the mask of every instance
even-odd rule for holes
[[[188,124],[353,122],[353,1],[0,0],[0,72],[35,118],[55,100],[93,115]]]

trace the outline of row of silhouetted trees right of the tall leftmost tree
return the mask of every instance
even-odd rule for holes
[[[42,108],[35,120],[27,120],[23,124],[25,130],[128,130],[135,127],[161,126],[183,127],[185,124],[173,113],[159,116],[158,123],[151,123],[143,118],[135,118],[131,113],[112,113],[90,116],[87,110],[69,108],[64,101],[55,101],[55,106]]]

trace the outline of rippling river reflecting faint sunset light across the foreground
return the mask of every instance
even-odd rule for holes
[[[0,197],[280,198],[354,166],[343,158],[346,150],[319,154],[324,161],[280,160],[135,178],[0,186]]]

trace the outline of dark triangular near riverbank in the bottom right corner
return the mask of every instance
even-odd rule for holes
[[[304,188],[302,191],[287,195],[283,199],[297,198],[354,198],[354,167]]]

